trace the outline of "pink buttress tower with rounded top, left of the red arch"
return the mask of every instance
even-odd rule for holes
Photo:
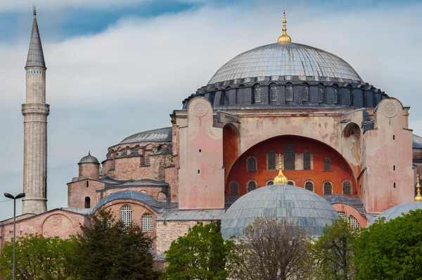
[[[210,102],[193,98],[186,126],[179,125],[180,209],[224,208],[222,128],[213,127],[212,123]]]

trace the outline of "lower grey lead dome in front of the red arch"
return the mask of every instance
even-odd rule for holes
[[[263,186],[246,193],[224,213],[223,237],[241,234],[257,217],[298,222],[311,236],[321,236],[326,224],[338,219],[338,213],[328,201],[307,189],[288,184]]]

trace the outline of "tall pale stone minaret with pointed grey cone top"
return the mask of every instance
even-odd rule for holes
[[[47,210],[47,116],[46,63],[42,52],[34,7],[30,49],[26,70],[26,100],[22,105],[23,191],[22,214],[39,214]]]

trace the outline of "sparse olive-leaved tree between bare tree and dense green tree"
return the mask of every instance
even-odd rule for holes
[[[357,274],[354,262],[358,233],[344,219],[337,219],[327,227],[324,235],[312,246],[317,279],[350,280]]]

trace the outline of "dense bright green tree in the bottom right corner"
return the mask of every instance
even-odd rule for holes
[[[422,210],[376,221],[357,242],[357,279],[422,279]]]

